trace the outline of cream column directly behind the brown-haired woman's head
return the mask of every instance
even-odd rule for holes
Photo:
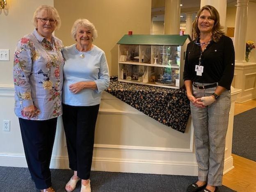
[[[220,25],[226,30],[226,0],[201,0],[200,8],[205,5],[211,5],[217,9]]]

